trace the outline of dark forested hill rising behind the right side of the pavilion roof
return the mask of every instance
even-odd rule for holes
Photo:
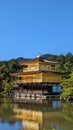
[[[66,55],[45,54],[45,55],[42,55],[41,57],[50,61],[59,62],[59,65],[56,66],[55,68],[55,70],[58,72],[71,73],[73,71],[73,54],[70,52],[68,52]]]

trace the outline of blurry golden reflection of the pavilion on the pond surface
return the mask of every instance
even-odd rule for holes
[[[18,104],[13,109],[15,119],[22,120],[24,130],[56,130],[54,121],[61,121],[61,101],[42,104]]]

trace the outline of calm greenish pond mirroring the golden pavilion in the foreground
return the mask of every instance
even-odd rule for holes
[[[0,99],[0,130],[73,130],[73,103]]]

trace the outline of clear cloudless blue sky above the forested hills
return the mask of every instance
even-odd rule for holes
[[[73,0],[0,0],[0,60],[73,54]]]

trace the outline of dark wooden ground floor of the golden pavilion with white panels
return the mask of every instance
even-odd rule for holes
[[[46,99],[60,98],[61,86],[59,83],[23,83],[14,86],[16,99]]]

